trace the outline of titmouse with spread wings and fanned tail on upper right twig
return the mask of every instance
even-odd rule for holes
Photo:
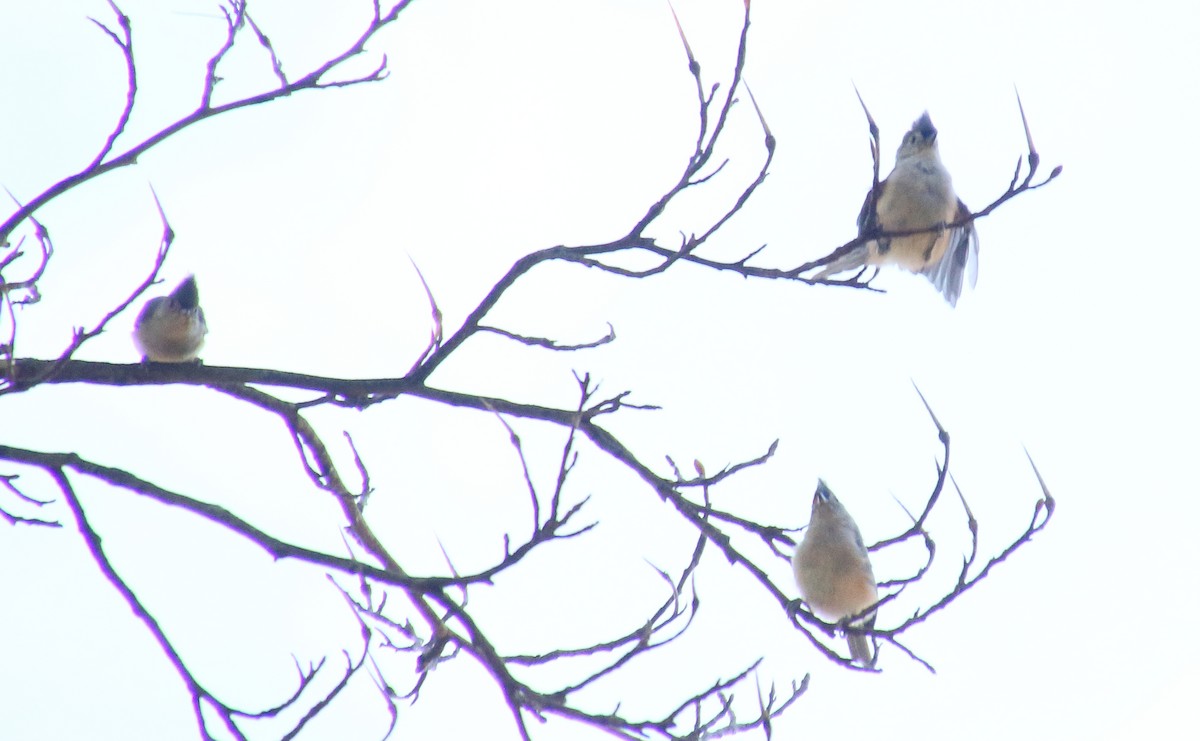
[[[871,209],[872,200],[875,209]],[[937,129],[923,113],[896,150],[896,164],[858,213],[859,236],[934,229],[971,216],[954,194],[950,174],[937,152]],[[908,236],[870,240],[834,260],[816,278],[826,278],[865,265],[894,264],[919,272],[954,306],[962,293],[962,275],[976,282],[979,237],[974,223]]]

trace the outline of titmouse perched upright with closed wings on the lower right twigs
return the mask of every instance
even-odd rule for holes
[[[804,602],[826,622],[857,615],[878,602],[871,561],[858,525],[823,481],[812,495],[812,517],[792,556],[796,583]],[[875,625],[871,613],[859,625]],[[875,664],[866,635],[850,634],[850,656],[864,667]]]

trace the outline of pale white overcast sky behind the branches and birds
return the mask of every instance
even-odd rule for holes
[[[251,11],[298,76],[356,37],[365,16],[350,5],[262,0]],[[676,5],[706,82],[724,90],[742,4]],[[222,31],[211,4],[122,7],[144,107],[118,150],[194,106]],[[694,643],[598,688],[596,710],[622,697],[631,715],[661,712],[766,656],[764,685],[812,674],[778,737],[1188,735],[1200,692],[1189,629],[1200,564],[1190,284],[1200,260],[1188,223],[1200,164],[1196,12],[1183,2],[762,0],[746,79],[778,151],[766,183],[703,254],[767,245],[756,263],[790,267],[853,236],[870,159],[852,84],[882,128],[884,171],[928,109],[959,194],[980,207],[1024,155],[1015,85],[1044,171],[1064,173],[978,223],[977,289],[952,311],[923,278],[896,271],[877,282],[887,294],[872,294],[690,266],[646,281],[552,266],[523,278],[490,321],[563,342],[611,323],[617,342],[558,355],[485,338],[438,370],[440,387],[553,405],[575,403],[571,369],[606,392],[631,390],[664,409],[608,423],[660,471],[667,454],[715,470],[779,439],[775,458],[721,484],[716,504],[798,526],[821,476],[869,542],[902,529],[893,496],[919,507],[932,486],[940,446],[916,382],[952,435],[952,471],[984,554],[1021,531],[1039,494],[1022,447],[1058,500],[1032,544],[907,634],[936,675],[888,649],[880,675],[830,664],[710,554]],[[120,58],[88,16],[110,11],[84,0],[0,10],[10,31],[0,185],[17,198],[90,161],[120,109]],[[271,84],[246,47],[222,70],[220,95]],[[43,209],[58,253],[44,301],[20,315],[19,355],[58,354],[71,327],[94,324],[140,281],[160,230],[152,185],[178,234],[164,276],[199,281],[205,362],[400,375],[428,333],[409,258],[456,327],[521,255],[624,234],[678,177],[695,138],[695,88],[665,2],[416,0],[352,68],[382,53],[391,76],[380,84],[204,122]],[[707,228],[761,165],[757,118],[738,95],[720,147],[730,164],[668,211],[656,231],[667,240]],[[79,357],[134,362],[134,313]],[[11,445],[126,466],[278,537],[342,552],[331,502],[311,489],[276,421],[214,392],[41,387],[6,397],[0,418]],[[412,572],[444,570],[439,541],[460,571],[481,567],[504,531],[527,526],[520,469],[491,416],[402,399],[312,418],[331,442],[354,434],[377,487],[367,514]],[[562,435],[516,427],[548,481]],[[664,596],[646,561],[677,573],[690,553],[690,534],[601,453],[584,448],[575,476],[572,495],[593,496],[594,536],[473,592],[512,652],[628,629]],[[44,477],[23,481],[50,496]],[[290,653],[307,663],[354,645],[356,627],[319,573],[272,564],[127,493],[80,490],[116,565],[230,704],[286,697]],[[953,579],[966,548],[953,501],[938,512],[932,588]],[[68,525],[0,529],[0,737],[193,735],[176,675],[100,577],[61,502],[49,513]],[[794,594],[785,562],[762,562]],[[907,564],[889,555],[876,574]],[[914,591],[906,598],[931,594]],[[522,612],[529,606],[538,609]],[[886,608],[881,622],[914,607]],[[362,689],[302,737],[374,737],[384,723]],[[516,737],[496,687],[463,659],[438,668],[422,700],[402,710],[396,737],[451,733]],[[534,733],[599,737],[560,723]]]

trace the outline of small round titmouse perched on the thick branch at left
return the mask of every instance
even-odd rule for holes
[[[133,324],[133,344],[143,360],[186,363],[196,360],[208,331],[196,277],[187,276],[169,296],[151,299],[142,307]]]

